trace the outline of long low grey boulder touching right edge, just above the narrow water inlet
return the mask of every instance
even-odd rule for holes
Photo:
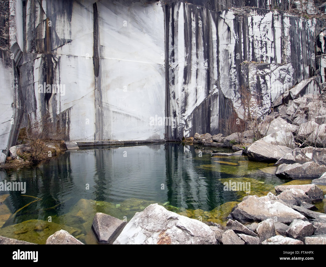
[[[314,161],[304,164],[281,164],[277,167],[275,175],[288,179],[313,179],[319,178],[326,171],[325,165],[319,165]]]

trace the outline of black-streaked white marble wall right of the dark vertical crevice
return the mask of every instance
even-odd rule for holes
[[[315,19],[279,10],[232,8],[221,12],[187,3],[165,8],[167,116],[177,117],[168,138],[223,133],[233,108],[241,117],[239,88],[250,88],[266,114],[271,101],[313,76]]]

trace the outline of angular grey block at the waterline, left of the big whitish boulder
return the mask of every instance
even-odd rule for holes
[[[126,225],[126,222],[101,212],[96,213],[92,229],[99,243],[113,243],[114,236]]]

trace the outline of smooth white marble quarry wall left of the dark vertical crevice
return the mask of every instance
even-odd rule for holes
[[[20,92],[30,118],[49,112],[70,141],[164,138],[164,126],[150,126],[165,115],[158,1],[27,1],[24,14]],[[65,90],[40,93],[44,82]]]

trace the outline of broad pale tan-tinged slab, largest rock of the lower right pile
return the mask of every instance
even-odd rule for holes
[[[294,219],[307,220],[299,212],[294,211],[277,200],[270,200],[267,196],[260,198],[258,196],[244,197],[243,201],[233,208],[230,215],[233,219],[243,223],[263,221],[269,218],[283,223],[290,223]]]

